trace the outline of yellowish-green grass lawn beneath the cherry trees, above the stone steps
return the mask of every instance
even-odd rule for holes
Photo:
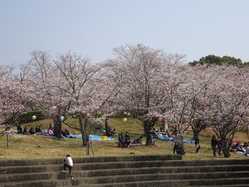
[[[27,124],[28,126],[41,125],[47,128],[51,120],[43,120]],[[77,124],[74,124],[77,126]],[[128,119],[124,122],[122,119],[111,119],[110,126],[117,132],[128,131],[137,136],[143,133],[143,125],[140,121]],[[75,131],[76,132],[76,131]],[[77,132],[76,132],[77,133]],[[186,133],[185,138],[191,138],[191,133]],[[185,144],[185,160],[202,159],[224,159],[222,157],[213,158],[210,148],[210,132],[202,132],[200,137],[201,149],[195,153],[194,145]],[[236,139],[249,141],[245,133],[237,133]],[[116,138],[113,141],[93,142],[94,156],[128,156],[128,155],[164,155],[172,154],[173,144],[166,141],[156,141],[154,146],[136,146],[130,148],[119,148]],[[6,148],[6,137],[0,136],[0,159],[39,159],[39,158],[63,158],[65,154],[70,153],[73,157],[87,157],[86,148],[82,147],[80,139],[62,139],[56,140],[38,135],[14,135],[10,137],[9,148]],[[92,155],[91,155],[92,156]],[[247,157],[239,154],[233,154],[229,159],[246,159]]]

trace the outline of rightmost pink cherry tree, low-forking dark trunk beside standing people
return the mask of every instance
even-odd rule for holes
[[[229,157],[234,134],[249,114],[249,74],[247,70],[233,66],[217,68],[220,76],[209,85],[206,116],[222,142],[224,156]]]

